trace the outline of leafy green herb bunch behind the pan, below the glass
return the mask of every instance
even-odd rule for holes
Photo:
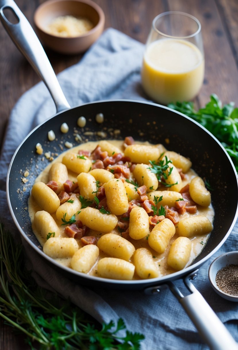
[[[210,96],[210,102],[198,111],[193,102],[170,103],[168,107],[196,120],[210,131],[224,146],[238,172],[238,108],[230,102],[222,106],[216,94]]]

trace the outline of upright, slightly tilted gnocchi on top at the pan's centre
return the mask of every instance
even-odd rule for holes
[[[129,205],[126,189],[121,179],[111,179],[104,185],[109,211],[115,215],[127,212]]]

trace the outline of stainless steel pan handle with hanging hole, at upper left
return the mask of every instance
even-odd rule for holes
[[[4,9],[11,10],[18,23],[10,23],[3,13]],[[57,113],[70,108],[42,44],[13,0],[0,0],[0,20],[18,50],[44,81],[54,100]]]

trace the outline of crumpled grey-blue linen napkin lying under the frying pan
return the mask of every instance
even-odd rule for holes
[[[58,75],[62,90],[71,106],[101,99],[147,100],[140,85],[140,67],[144,46],[115,29],[107,29],[76,65]],[[19,239],[7,209],[5,181],[10,159],[23,138],[33,127],[55,113],[52,98],[43,83],[32,87],[19,99],[10,115],[0,158],[0,220]],[[7,215],[6,215],[7,212]],[[125,292],[106,289],[91,290],[75,285],[46,264],[29,245],[22,242],[34,270],[37,283],[55,290],[91,314],[99,322],[117,322],[122,317],[127,329],[145,335],[141,349],[145,350],[205,350],[193,323],[170,290],[148,296],[143,292]],[[211,288],[208,268],[220,254],[238,250],[238,225],[212,258],[199,270],[193,282],[213,310],[225,322],[238,341],[238,303],[222,299]],[[182,281],[176,286],[183,294]],[[67,287],[66,287],[67,286]],[[198,306],[199,307],[199,306]]]

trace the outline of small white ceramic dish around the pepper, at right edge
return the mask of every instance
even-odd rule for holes
[[[220,255],[220,257],[216,258],[210,265],[208,276],[211,282],[211,286],[213,287],[213,289],[217,294],[219,294],[220,296],[222,296],[227,300],[238,302],[238,295],[231,295],[231,294],[225,293],[216,284],[217,272],[222,267],[232,265],[232,264],[238,265],[238,251],[225,253]]]

